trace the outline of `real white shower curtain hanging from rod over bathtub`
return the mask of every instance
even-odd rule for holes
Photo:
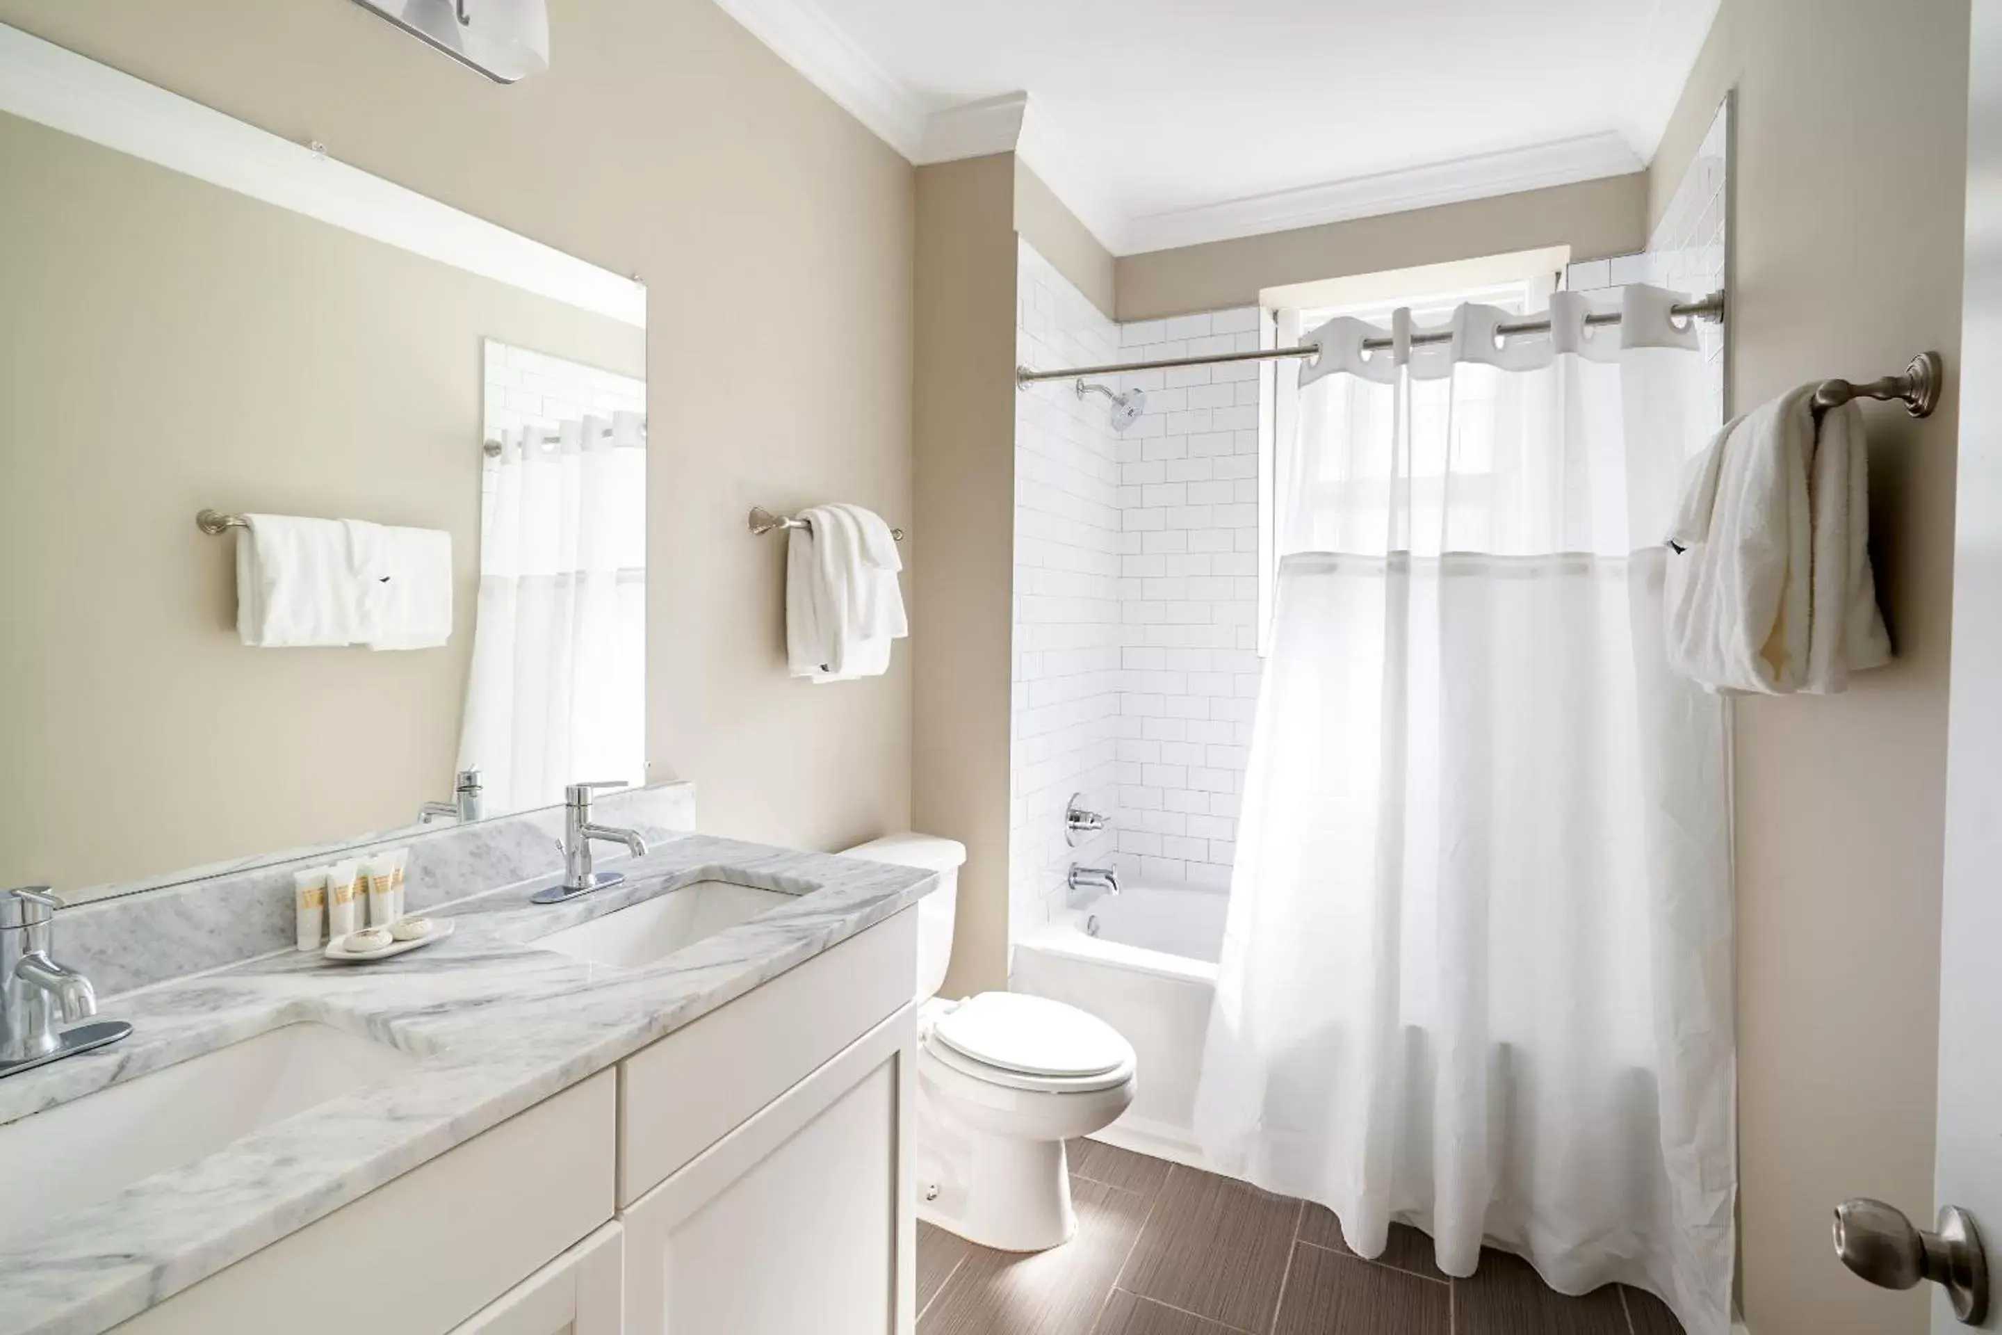
[[[1313,334],[1197,1137],[1365,1257],[1405,1221],[1724,1335],[1728,739],[1660,630],[1706,400],[1674,298],[1622,298]]]

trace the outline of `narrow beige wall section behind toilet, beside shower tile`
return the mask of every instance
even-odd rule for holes
[[[917,829],[967,845],[949,997],[1007,987],[1015,154],[917,168]]]

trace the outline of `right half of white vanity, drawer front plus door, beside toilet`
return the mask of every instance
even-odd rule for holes
[[[623,1063],[629,1335],[909,1335],[917,913]]]

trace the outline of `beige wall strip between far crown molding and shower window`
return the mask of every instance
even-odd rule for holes
[[[1648,174],[1217,240],[1117,260],[1121,320],[1257,304],[1261,288],[1481,254],[1572,246],[1574,260],[1648,244]]]

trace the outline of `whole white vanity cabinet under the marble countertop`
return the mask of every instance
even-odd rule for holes
[[[907,909],[122,1335],[911,1335]]]

